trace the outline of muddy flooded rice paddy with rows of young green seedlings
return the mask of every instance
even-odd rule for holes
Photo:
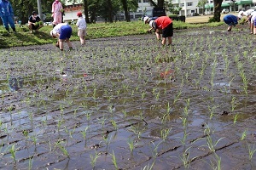
[[[224,29],[0,49],[0,169],[256,169],[256,39]]]

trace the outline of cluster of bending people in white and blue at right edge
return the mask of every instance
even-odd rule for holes
[[[231,31],[234,26],[238,25],[239,20],[241,20],[243,16],[247,17],[245,22],[249,22],[250,33],[256,35],[256,11],[254,11],[254,9],[240,11],[237,16],[234,14],[225,15],[224,23],[229,26],[228,31]]]

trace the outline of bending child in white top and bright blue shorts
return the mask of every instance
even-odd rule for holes
[[[49,32],[51,37],[58,38],[56,46],[63,51],[64,41],[67,42],[67,46],[69,50],[72,50],[72,43],[69,41],[69,38],[72,34],[71,26],[68,26],[67,23],[61,23],[56,25],[52,31]]]

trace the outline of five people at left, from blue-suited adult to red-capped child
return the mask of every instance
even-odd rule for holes
[[[50,31],[49,34],[51,37],[58,38],[56,47],[63,50],[63,42],[67,42],[69,49],[73,49],[72,43],[69,41],[69,38],[72,35],[72,28],[67,23],[62,23],[63,7],[60,0],[55,0],[55,2],[52,3],[51,12],[51,16],[53,17],[53,30]],[[80,38],[81,45],[84,45],[86,36],[86,21],[84,20],[83,14],[81,12],[78,12],[77,16],[79,17],[79,20],[76,24],[76,26],[78,26],[78,36]],[[8,33],[9,26],[15,33],[16,29],[14,21],[14,10],[9,0],[0,0],[0,17],[3,20],[3,26],[8,31]],[[31,33],[38,31],[38,29],[44,26],[43,23],[39,23],[40,21],[41,19],[38,16],[38,13],[33,11],[27,23]]]

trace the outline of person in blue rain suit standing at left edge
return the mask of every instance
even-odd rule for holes
[[[8,31],[8,33],[9,26],[13,29],[15,33],[16,29],[14,21],[14,10],[8,0],[0,0],[0,17],[3,20],[3,26]]]

